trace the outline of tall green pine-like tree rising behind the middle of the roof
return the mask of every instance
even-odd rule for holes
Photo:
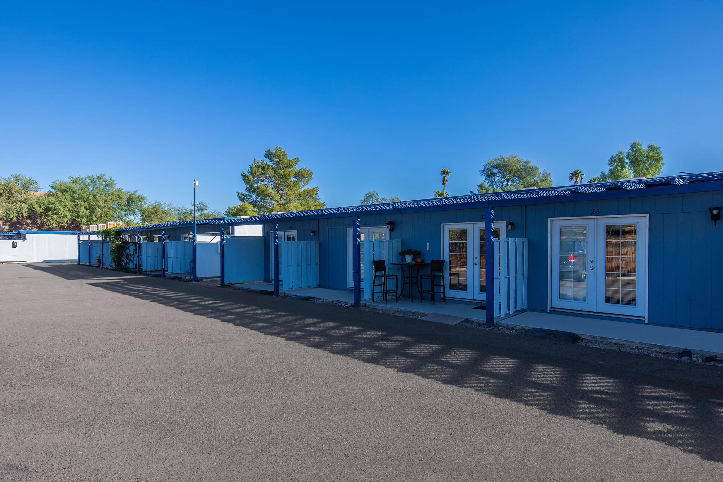
[[[303,211],[321,209],[318,187],[307,187],[314,173],[297,167],[300,159],[290,159],[281,147],[266,150],[263,159],[255,159],[241,173],[245,192],[237,192],[241,203],[247,202],[261,214],[274,211]]]

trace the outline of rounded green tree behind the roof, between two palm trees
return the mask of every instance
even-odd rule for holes
[[[492,158],[479,171],[484,181],[477,186],[477,192],[515,191],[525,187],[552,187],[552,176],[531,160],[517,155]]]

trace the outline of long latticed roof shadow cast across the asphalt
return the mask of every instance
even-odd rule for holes
[[[723,369],[716,366],[74,264],[28,266],[723,462]]]

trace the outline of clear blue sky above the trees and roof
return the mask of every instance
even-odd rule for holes
[[[466,194],[501,154],[567,184],[633,140],[715,171],[722,87],[721,1],[5,1],[0,176],[103,172],[179,205],[198,178],[223,210],[274,145],[329,206],[429,197],[440,168]]]

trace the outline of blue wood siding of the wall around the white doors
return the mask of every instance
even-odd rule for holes
[[[547,310],[549,218],[649,215],[648,321],[679,327],[723,330],[723,222],[714,226],[709,207],[723,205],[723,191],[495,208],[495,220],[512,221],[508,237],[529,238],[529,309]],[[395,223],[391,239],[402,249],[442,256],[442,224],[482,222],[484,208],[361,216],[361,225]],[[348,218],[279,223],[295,229],[299,241],[320,242],[320,285],[347,288]],[[316,236],[311,236],[316,231]],[[264,225],[265,266],[273,225]],[[427,249],[429,244],[429,249]]]

